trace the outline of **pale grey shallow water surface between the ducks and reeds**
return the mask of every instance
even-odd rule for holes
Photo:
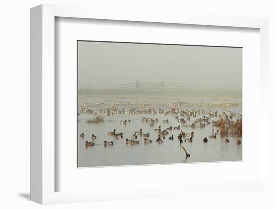
[[[111,105],[117,109],[121,108],[138,108],[147,109],[155,108],[158,112],[159,108],[170,109],[177,106],[178,102],[184,102],[179,108],[184,109],[205,109],[214,110],[220,114],[222,110],[231,111],[234,113],[241,113],[240,99],[224,99],[224,98],[141,98],[141,97],[118,97],[118,96],[79,96],[79,110],[80,108],[88,108],[96,112],[102,108],[110,108]],[[96,104],[98,102],[99,104]],[[83,107],[83,104],[87,105]],[[215,107],[214,107],[215,106]],[[78,110],[78,111],[79,111]],[[114,114],[107,116],[107,114],[99,114],[104,116],[102,123],[87,123],[88,119],[95,116],[87,113],[80,113],[78,122],[78,167],[93,167],[93,166],[118,166],[118,165],[143,165],[143,164],[168,164],[168,163],[191,163],[191,162],[213,162],[213,161],[239,161],[242,160],[242,144],[237,145],[237,137],[227,136],[230,140],[225,143],[225,136],[217,135],[216,139],[210,139],[209,135],[212,134],[212,125],[206,125],[204,128],[191,128],[189,125],[193,120],[202,118],[203,115],[197,115],[196,118],[191,117],[190,122],[180,124],[177,119],[171,114],[165,116],[164,114]],[[208,114],[204,114],[209,116]],[[142,123],[142,117],[145,118],[158,118],[158,122],[150,126],[150,123]],[[181,117],[180,117],[181,118]],[[211,121],[218,120],[218,117],[210,117]],[[130,119],[131,122],[120,124],[120,121]],[[163,120],[169,120],[169,123],[163,123]],[[232,119],[236,120],[235,117]],[[180,130],[169,130],[169,134],[165,137],[162,144],[156,142],[158,137],[157,129],[161,129],[180,125]],[[139,131],[142,128],[143,133],[150,134],[149,139],[152,143],[144,143],[143,136],[139,136],[137,140],[139,144],[130,145],[126,144],[125,139],[132,139],[134,131]],[[114,136],[108,136],[107,132],[117,130],[117,133],[123,132],[122,139],[116,139]],[[185,147],[190,157],[186,158],[186,154],[179,145],[177,135],[180,131],[185,133],[195,133],[192,142],[183,142],[182,146]],[[214,133],[217,127],[214,127]],[[81,138],[80,133],[85,136]],[[92,140],[92,134],[97,136],[97,139]],[[169,136],[174,136],[174,140],[169,140]],[[208,138],[207,143],[203,143],[202,139]],[[242,138],[239,137],[242,141]],[[86,147],[85,141],[95,142],[94,146]],[[113,141],[114,144],[104,146],[104,141]]]

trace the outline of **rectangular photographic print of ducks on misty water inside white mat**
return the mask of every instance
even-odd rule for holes
[[[77,167],[242,160],[242,48],[77,41]]]

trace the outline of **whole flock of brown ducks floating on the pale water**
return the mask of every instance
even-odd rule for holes
[[[90,109],[81,109],[80,113],[88,113],[88,114],[93,114],[93,115],[97,115],[97,114],[107,114],[107,116],[113,115],[113,114],[164,114],[165,116],[168,114],[171,114],[172,116],[174,116],[174,118],[182,125],[185,125],[187,121],[190,121],[191,118],[196,118],[197,115],[203,115],[202,118],[196,118],[195,120],[193,120],[192,122],[190,122],[189,127],[191,128],[204,128],[205,126],[212,124],[212,126],[216,126],[216,121],[211,121],[211,117],[218,117],[218,118],[224,118],[225,121],[227,121],[228,123],[232,123],[233,121],[231,121],[231,119],[233,117],[241,117],[241,114],[237,114],[237,113],[233,113],[230,111],[222,111],[221,114],[218,114],[217,111],[213,111],[213,110],[187,110],[187,109],[180,109],[180,108],[171,108],[171,109],[159,109],[156,110],[154,108],[149,108],[149,109],[134,109],[134,108],[122,108],[122,109],[116,109],[116,108],[103,108],[98,110],[97,112],[94,112],[93,110]],[[209,115],[209,116],[205,116],[205,115]],[[146,118],[145,116],[142,117],[141,122],[142,123],[149,123],[150,126],[153,126],[155,123],[157,123],[159,121],[158,118]],[[88,123],[91,123],[91,120],[87,121]],[[128,123],[130,123],[131,120],[130,119],[125,119],[120,121],[120,124],[124,124],[127,125]],[[168,119],[162,120],[162,123],[167,124],[169,123]],[[178,126],[169,126],[166,128],[161,128],[161,126],[159,126],[157,129],[153,129],[154,133],[156,133],[155,135],[150,136],[150,134],[144,133],[142,129],[140,129],[139,131],[134,131],[132,132],[133,135],[128,138],[125,139],[126,144],[130,144],[130,145],[139,145],[140,143],[152,143],[153,140],[150,138],[155,138],[155,141],[158,144],[162,144],[163,140],[168,139],[168,140],[178,140],[178,143],[182,146],[183,142],[193,142],[194,140],[194,135],[195,133],[192,131],[191,133],[185,133],[184,131],[181,130],[180,125]],[[212,129],[212,134],[209,135],[209,140],[212,138],[216,138],[217,134],[219,133],[219,130],[217,129],[216,133],[213,134],[213,129]],[[124,134],[122,132],[117,132],[116,129],[114,129],[111,132],[108,132],[107,135],[114,137],[115,139],[122,139],[124,138]],[[80,134],[81,138],[84,138],[84,133]],[[85,141],[85,146],[89,147],[89,146],[94,146],[95,142],[94,140],[97,139],[97,137],[92,134],[91,136],[92,142],[88,142]],[[203,143],[207,143],[208,142],[208,138],[205,137],[202,139]],[[229,143],[229,139],[225,139],[225,143]],[[237,138],[237,142],[238,145],[241,144],[241,141],[239,138]],[[104,141],[104,146],[112,146],[114,144],[114,141]],[[187,151],[185,150],[185,148],[182,146],[182,148],[184,149],[185,153],[187,156],[189,156],[189,154],[187,154]]]

